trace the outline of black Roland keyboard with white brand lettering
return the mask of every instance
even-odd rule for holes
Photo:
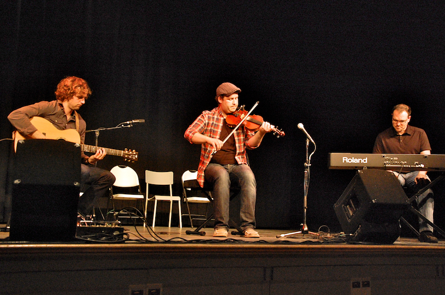
[[[329,153],[329,169],[445,171],[445,155]]]

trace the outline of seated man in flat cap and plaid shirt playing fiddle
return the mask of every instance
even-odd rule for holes
[[[241,125],[226,139],[232,129],[227,126],[225,118],[237,110],[239,92],[241,89],[231,83],[218,86],[215,97],[218,107],[202,112],[187,128],[184,137],[190,143],[201,144],[197,180],[201,187],[205,182],[213,186],[213,236],[227,237],[230,187],[237,185],[240,188],[240,228],[244,237],[259,238],[255,230],[257,183],[247,163],[246,149],[259,147],[264,135],[272,131],[273,126],[263,122],[260,129],[254,132]]]

